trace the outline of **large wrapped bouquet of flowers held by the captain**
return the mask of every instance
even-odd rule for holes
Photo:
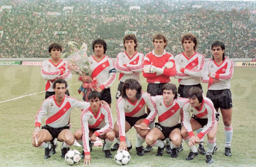
[[[88,56],[86,54],[87,45],[83,43],[80,47],[79,44],[73,41],[68,42],[68,46],[71,48],[70,52],[64,53],[61,57],[67,57],[68,60],[68,69],[75,74],[75,76],[79,76],[78,80],[82,81],[82,76],[90,76],[90,62]],[[91,89],[97,88],[97,80],[95,78],[91,79],[89,83],[83,83],[78,89],[79,94],[83,92],[83,100],[88,100],[88,95],[91,92]]]

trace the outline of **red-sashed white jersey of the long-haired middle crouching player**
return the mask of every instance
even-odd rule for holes
[[[155,113],[156,105],[151,96],[142,92],[141,98],[135,103],[120,97],[116,101],[117,125],[120,141],[125,141],[125,116],[140,117],[145,114],[145,106],[148,106],[151,112]],[[154,116],[154,115],[153,115]]]

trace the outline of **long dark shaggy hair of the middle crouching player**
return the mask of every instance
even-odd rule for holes
[[[141,84],[137,80],[135,80],[135,79],[126,79],[124,81],[124,84],[121,88],[121,96],[124,99],[128,98],[127,95],[126,95],[126,92],[125,92],[126,89],[135,89],[137,91],[136,99],[141,98]]]

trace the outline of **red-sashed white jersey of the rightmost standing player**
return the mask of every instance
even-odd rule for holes
[[[234,63],[232,60],[225,58],[220,65],[216,64],[214,60],[208,60],[204,66],[202,81],[208,83],[209,90],[230,89],[230,80],[234,73]],[[220,80],[220,82],[213,83],[213,78],[208,77],[209,73],[212,73],[212,76]]]

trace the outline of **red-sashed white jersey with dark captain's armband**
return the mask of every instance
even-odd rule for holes
[[[89,57],[92,78],[96,78],[97,86],[103,89],[110,87],[116,79],[116,68],[114,61],[105,56],[97,61],[93,56]]]

